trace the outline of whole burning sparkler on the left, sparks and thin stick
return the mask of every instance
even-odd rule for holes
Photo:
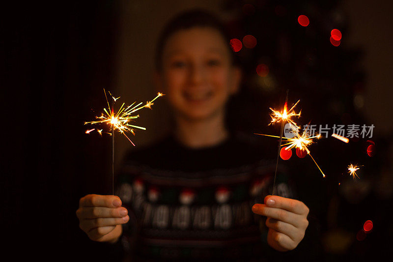
[[[127,132],[132,133],[133,135],[135,135],[135,128],[138,129],[142,129],[142,130],[146,130],[145,127],[141,127],[141,126],[137,126],[137,125],[132,125],[129,124],[130,121],[132,121],[132,119],[136,119],[139,117],[139,115],[134,115],[133,114],[142,109],[142,108],[150,108],[153,105],[153,101],[156,100],[158,97],[163,96],[163,93],[158,93],[157,96],[151,100],[151,101],[147,101],[145,105],[142,105],[143,103],[140,102],[139,104],[135,105],[136,102],[134,102],[133,104],[131,104],[130,106],[125,106],[125,103],[123,103],[121,105],[121,107],[119,108],[119,110],[117,111],[117,113],[114,113],[114,102],[116,102],[117,99],[120,98],[117,97],[115,98],[114,96],[112,96],[111,92],[108,91],[108,93],[112,96],[112,108],[109,105],[109,101],[108,101],[108,97],[107,97],[107,93],[104,89],[104,93],[105,93],[105,98],[107,99],[107,103],[108,103],[108,108],[104,108],[104,113],[101,114],[101,116],[96,116],[97,119],[96,121],[90,121],[90,122],[85,122],[84,124],[108,124],[111,127],[111,133],[107,132],[107,134],[112,136],[112,194],[114,193],[114,188],[113,188],[113,176],[114,176],[114,131],[117,130],[118,132],[120,132],[121,134],[123,134],[128,141],[131,142],[131,144],[133,146],[135,146],[135,144],[131,141],[131,139],[126,135]],[[111,113],[109,113],[111,112]],[[90,132],[94,131],[95,128],[90,129],[90,130],[86,130],[86,134],[89,134]],[[96,129],[97,132],[102,135],[102,130],[103,129]]]

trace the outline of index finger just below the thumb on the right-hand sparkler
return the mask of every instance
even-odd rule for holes
[[[254,204],[253,212],[258,215],[271,217],[280,220],[285,223],[289,223],[295,227],[300,227],[299,221],[303,220],[303,217],[289,212],[281,208],[268,207],[265,204]]]

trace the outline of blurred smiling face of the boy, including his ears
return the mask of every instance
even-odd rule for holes
[[[158,76],[176,116],[204,120],[224,115],[240,81],[229,52],[224,37],[212,28],[184,29],[168,38]]]

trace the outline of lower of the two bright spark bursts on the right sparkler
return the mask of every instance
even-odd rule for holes
[[[280,138],[279,136],[271,136],[271,135],[264,135],[264,134],[255,134],[255,135],[261,135],[261,136],[266,136],[266,137],[275,137],[275,138]],[[300,150],[306,150],[307,154],[311,157],[312,161],[314,161],[315,165],[319,169],[319,171],[322,173],[323,177],[325,177],[325,174],[321,170],[321,168],[318,166],[316,163],[315,159],[312,157],[310,150],[308,148],[309,145],[315,143],[313,139],[319,139],[321,138],[321,135],[315,135],[315,136],[310,136],[310,132],[306,129],[302,135],[300,135],[298,132],[295,132],[295,137],[293,138],[286,138],[282,137],[287,143],[282,144],[281,146],[286,146],[285,149],[289,150],[293,147],[299,148]]]

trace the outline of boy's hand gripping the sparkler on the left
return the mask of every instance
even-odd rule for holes
[[[121,224],[128,222],[126,208],[117,196],[86,195],[76,211],[79,227],[91,240],[116,242],[122,233]]]

